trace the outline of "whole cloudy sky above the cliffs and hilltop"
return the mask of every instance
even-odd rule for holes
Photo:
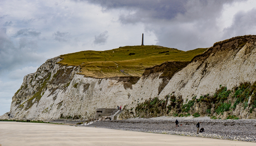
[[[78,51],[159,45],[189,51],[256,34],[255,0],[1,0],[0,115],[26,74]]]

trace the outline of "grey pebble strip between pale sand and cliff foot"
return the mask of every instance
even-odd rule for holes
[[[137,132],[163,133],[185,135],[190,137],[205,137],[216,139],[238,140],[256,142],[256,120],[213,120],[213,119],[183,119],[179,120],[179,127],[175,128],[175,120],[157,119],[129,119],[129,120],[101,120],[85,125],[86,127],[99,127],[120,129]],[[205,132],[196,133],[196,123]]]

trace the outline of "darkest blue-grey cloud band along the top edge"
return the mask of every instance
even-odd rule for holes
[[[99,4],[104,11],[109,9],[127,9],[132,13],[120,14],[123,23],[170,21],[179,15],[190,16],[186,20],[209,18],[209,15],[220,13],[219,9],[225,3],[238,0],[81,0]],[[200,13],[198,13],[200,12]],[[196,14],[195,14],[196,13]],[[181,20],[180,20],[181,21]]]

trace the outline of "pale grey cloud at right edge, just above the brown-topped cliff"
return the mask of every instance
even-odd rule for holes
[[[248,12],[241,11],[235,14],[232,25],[224,29],[223,39],[227,39],[235,36],[243,36],[247,34],[255,34],[256,33],[255,13],[256,13],[256,9],[254,8]]]

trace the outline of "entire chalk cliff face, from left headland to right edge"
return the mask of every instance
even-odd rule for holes
[[[87,119],[96,108],[135,107],[146,99],[175,95],[191,100],[256,81],[256,36],[215,43],[191,62],[166,62],[145,70],[142,77],[89,78],[80,67],[48,59],[37,72],[24,77],[12,98],[9,117],[52,120]],[[247,118],[247,117],[244,117]]]

